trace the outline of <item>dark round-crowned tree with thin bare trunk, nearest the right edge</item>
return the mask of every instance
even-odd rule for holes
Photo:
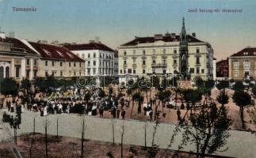
[[[233,94],[232,99],[233,99],[234,103],[237,106],[239,106],[242,128],[245,129],[246,126],[244,124],[243,111],[246,107],[250,107],[251,105],[253,105],[254,100],[251,99],[250,94],[248,94],[247,92],[243,92],[243,91],[236,91]]]

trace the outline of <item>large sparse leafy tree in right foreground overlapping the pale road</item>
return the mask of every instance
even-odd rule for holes
[[[192,143],[196,146],[197,157],[219,151],[227,144],[227,138],[230,136],[228,128],[231,123],[226,107],[217,107],[216,103],[203,104],[201,111],[179,122],[183,132],[178,149]]]

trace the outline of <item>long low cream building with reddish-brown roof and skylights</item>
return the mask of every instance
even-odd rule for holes
[[[85,61],[66,47],[49,43],[28,43],[40,54],[38,76],[80,77],[85,76]]]

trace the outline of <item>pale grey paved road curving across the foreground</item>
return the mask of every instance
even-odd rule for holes
[[[0,119],[2,118],[2,111],[0,111]],[[81,137],[82,117],[79,115],[48,115],[47,117],[40,117],[39,113],[25,111],[22,113],[21,129],[17,130],[17,134],[25,134],[33,131],[33,118],[36,118],[36,132],[44,134],[44,122],[48,119],[50,125],[48,126],[48,134],[56,134],[57,119],[59,119],[59,135],[64,137]],[[85,116],[86,120],[86,139],[95,141],[113,142],[112,124],[114,123],[115,142],[120,142],[120,130],[124,125],[124,144],[127,145],[144,145],[144,126],[145,122],[136,120],[120,120],[120,119],[101,119],[93,116]],[[147,146],[151,146],[154,122],[147,122]],[[166,149],[170,142],[170,137],[175,128],[174,124],[160,123],[155,135],[155,144],[159,148]],[[13,130],[11,131],[13,132]],[[1,134],[1,133],[0,133]],[[217,155],[252,158],[256,157],[256,135],[250,132],[243,132],[238,130],[230,131],[231,137],[228,138],[227,151],[217,152]],[[2,139],[2,137],[0,137]],[[181,134],[175,138],[174,145],[170,149],[178,149],[181,141]],[[185,146],[185,151],[194,150],[193,145]]]

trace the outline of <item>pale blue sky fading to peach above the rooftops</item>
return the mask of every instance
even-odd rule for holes
[[[36,12],[13,12],[36,7]],[[99,36],[113,49],[134,36],[181,30],[212,44],[227,58],[243,47],[256,47],[255,0],[0,0],[3,32],[28,40],[87,43]],[[243,13],[188,13],[188,9],[243,9]]]

